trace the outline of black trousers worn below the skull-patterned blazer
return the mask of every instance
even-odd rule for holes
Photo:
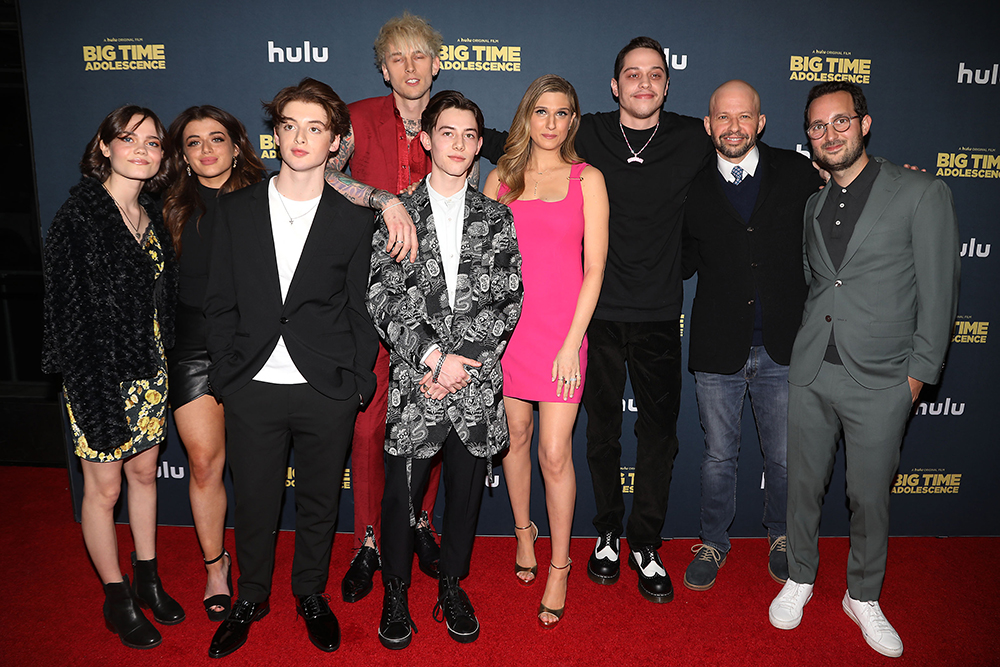
[[[444,523],[441,527],[442,577],[465,577],[472,560],[479,506],[486,486],[486,459],[473,456],[454,429],[444,441],[441,479],[444,481]],[[410,585],[413,569],[413,526],[410,507],[420,507],[427,478],[437,457],[412,459],[410,484],[406,461],[386,454],[382,494],[382,578],[399,577]]]

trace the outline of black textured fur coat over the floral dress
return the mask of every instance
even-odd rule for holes
[[[111,196],[83,178],[45,238],[42,370],[62,373],[87,444],[113,451],[131,437],[120,383],[156,374],[154,308],[165,347],[173,345],[177,262],[158,203],[140,195],[164,252],[154,266],[122,222]]]

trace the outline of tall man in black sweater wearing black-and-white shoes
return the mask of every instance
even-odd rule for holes
[[[608,265],[587,328],[583,406],[599,535],[587,574],[602,585],[618,581],[625,532],[639,593],[656,603],[674,598],[659,548],[678,449],[683,206],[712,146],[697,119],[663,110],[669,81],[663,47],[636,37],[615,60],[611,92],[618,109],[584,114],[576,135],[576,152],[604,174],[610,205]],[[488,131],[483,157],[495,163],[505,139]],[[626,370],[639,412],[632,511],[623,526]]]

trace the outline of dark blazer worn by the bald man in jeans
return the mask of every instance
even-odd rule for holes
[[[753,338],[754,299],[764,314],[764,348],[788,365],[802,322],[802,211],[823,184],[795,151],[757,143],[760,193],[749,223],[722,189],[715,159],[695,177],[684,207],[684,277],[698,273],[688,367],[704,373],[743,368]]]

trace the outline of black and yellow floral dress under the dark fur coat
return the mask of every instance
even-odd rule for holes
[[[153,260],[155,275],[159,277],[163,271],[163,248],[150,227],[144,246]],[[66,396],[66,411],[69,413],[70,425],[73,428],[73,440],[76,443],[76,455],[87,461],[104,463],[120,461],[130,456],[155,447],[166,436],[167,419],[167,361],[163,351],[163,340],[160,337],[160,322],[157,313],[153,313],[153,335],[156,337],[156,350],[160,363],[156,375],[152,378],[130,380],[121,383],[121,396],[125,402],[125,418],[132,429],[132,437],[112,452],[98,452],[87,445],[87,436],[77,426],[73,418],[73,406],[69,396]]]

